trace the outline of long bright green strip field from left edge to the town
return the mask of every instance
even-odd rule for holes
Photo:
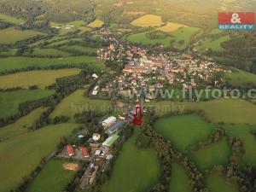
[[[29,58],[29,57],[7,57],[0,58],[0,72],[9,71],[14,69],[21,69],[27,67],[49,67],[49,66],[61,66],[61,65],[75,65],[81,66],[81,64],[94,63],[92,67],[98,69],[104,69],[104,65],[101,62],[96,61],[94,56],[73,56],[64,57],[59,59],[49,58]]]

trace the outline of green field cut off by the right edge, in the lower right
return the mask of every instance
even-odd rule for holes
[[[226,129],[231,137],[241,138],[243,148],[245,149],[245,154],[241,160],[241,166],[256,166],[256,139],[250,132],[256,130],[256,127],[253,125],[228,125]]]

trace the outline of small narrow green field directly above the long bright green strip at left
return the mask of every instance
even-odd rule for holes
[[[70,56],[71,54],[58,50],[58,49],[33,49],[32,54],[27,53],[26,55],[38,55],[38,56],[59,56],[59,57],[66,57]]]

